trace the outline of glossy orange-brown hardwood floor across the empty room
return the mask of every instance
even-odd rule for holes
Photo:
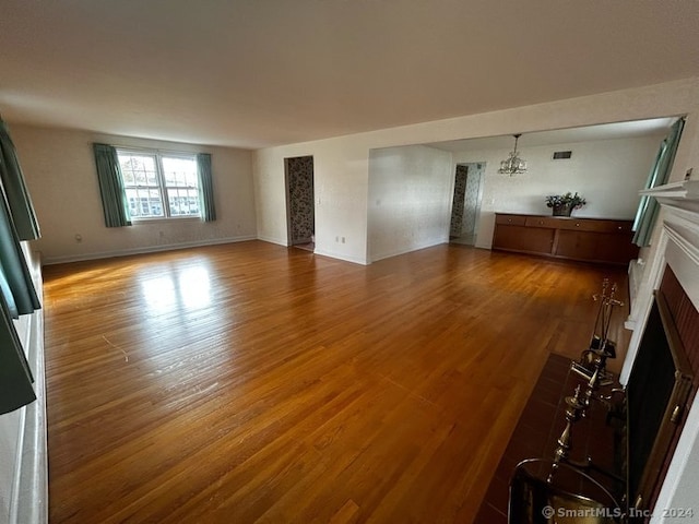
[[[51,523],[470,523],[604,276],[626,289],[624,270],[453,245],[47,266]]]

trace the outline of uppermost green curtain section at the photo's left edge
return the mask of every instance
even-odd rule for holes
[[[0,119],[0,179],[20,240],[39,238],[39,225],[36,222],[32,199],[24,184],[17,153],[2,119]]]

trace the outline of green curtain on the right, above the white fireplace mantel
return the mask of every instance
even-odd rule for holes
[[[660,144],[655,163],[651,168],[648,182],[645,182],[645,189],[652,189],[667,183],[684,127],[685,119],[678,119],[670,129],[670,133],[665,140]],[[655,225],[659,213],[660,204],[657,201],[647,194],[642,195],[638,205],[638,211],[636,212],[636,219],[633,221],[633,226],[631,228],[636,231],[633,235],[633,243],[641,248],[650,246],[653,226]]]

